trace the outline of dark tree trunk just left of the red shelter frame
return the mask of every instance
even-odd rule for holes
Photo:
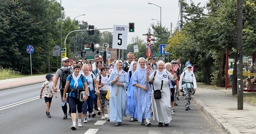
[[[218,68],[217,87],[222,87],[222,86],[224,86],[222,78],[224,77],[224,69],[225,69],[224,49],[220,49],[219,54],[220,54],[220,59],[219,59],[219,68]]]

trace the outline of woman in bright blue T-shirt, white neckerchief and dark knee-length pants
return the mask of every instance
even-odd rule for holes
[[[88,95],[88,86],[86,83],[85,76],[80,74],[80,65],[74,65],[74,73],[67,76],[66,85],[64,88],[63,95],[66,95],[68,87],[70,87],[70,92],[68,93],[68,102],[71,106],[71,117],[73,125],[71,126],[72,130],[76,129],[76,111],[78,112],[78,127],[82,127],[82,106],[83,102],[79,100],[80,92],[85,90],[83,96],[84,100],[87,100]],[[62,101],[66,101],[66,96],[62,97]]]

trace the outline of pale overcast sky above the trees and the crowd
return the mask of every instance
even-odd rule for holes
[[[162,26],[172,31],[176,29],[180,20],[179,0],[57,0],[64,7],[66,17],[78,21],[87,21],[97,29],[113,28],[113,25],[129,25],[134,22],[134,32],[128,32],[127,44],[132,37],[138,36],[146,42],[146,34],[151,24],[157,24],[161,19]],[[190,3],[189,0],[184,2]],[[205,5],[208,0],[191,0]],[[153,4],[148,4],[153,3]],[[158,7],[159,6],[159,7]],[[160,8],[161,7],[161,8]],[[161,16],[160,16],[161,9]],[[152,20],[156,19],[156,20]],[[158,21],[157,21],[158,20]],[[113,30],[105,30],[113,32]],[[103,32],[101,30],[101,32]]]

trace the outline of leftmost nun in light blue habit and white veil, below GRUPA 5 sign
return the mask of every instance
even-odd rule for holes
[[[126,117],[126,87],[129,84],[127,73],[123,71],[123,62],[118,60],[115,62],[113,71],[109,76],[108,85],[111,86],[109,96],[109,119],[115,122],[114,126],[119,126]]]

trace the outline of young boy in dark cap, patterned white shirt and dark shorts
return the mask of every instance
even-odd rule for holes
[[[51,107],[52,97],[54,93],[55,98],[57,98],[57,93],[53,91],[53,86],[52,86],[53,75],[47,74],[45,78],[47,79],[47,81],[43,83],[43,86],[41,88],[40,99],[42,98],[42,92],[44,90],[44,101],[46,103],[45,113],[48,118],[51,118],[52,116],[50,115],[50,107]]]

